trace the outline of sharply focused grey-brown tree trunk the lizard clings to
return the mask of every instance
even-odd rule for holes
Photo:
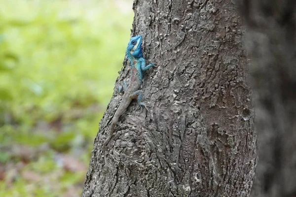
[[[144,36],[144,99],[102,143],[120,96],[101,121],[82,197],[248,197],[256,133],[243,29],[230,0],[135,0]],[[127,40],[128,42],[128,40]],[[125,66],[116,85],[128,77]],[[108,185],[111,182],[111,187]]]

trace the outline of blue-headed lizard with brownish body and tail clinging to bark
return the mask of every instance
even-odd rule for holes
[[[142,102],[143,92],[142,90],[139,90],[139,89],[143,81],[144,71],[154,66],[153,63],[146,66],[146,61],[142,53],[142,35],[137,35],[130,39],[126,49],[126,56],[129,62],[131,63],[131,67],[132,67],[130,82],[128,87],[124,88],[126,90],[119,104],[119,107],[117,108],[113,116],[109,136],[103,143],[103,152],[104,152],[105,164],[107,166],[107,173],[108,173],[108,163],[107,163],[107,157],[106,157],[106,148],[109,141],[112,138],[115,126],[119,120],[119,117],[126,111],[132,99],[137,99],[138,104],[140,106],[146,107],[146,104]]]

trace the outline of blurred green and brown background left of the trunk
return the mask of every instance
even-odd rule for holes
[[[78,197],[132,0],[0,0],[0,197]]]

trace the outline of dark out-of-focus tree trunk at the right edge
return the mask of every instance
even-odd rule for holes
[[[296,197],[296,1],[241,2],[259,133],[254,192]]]

